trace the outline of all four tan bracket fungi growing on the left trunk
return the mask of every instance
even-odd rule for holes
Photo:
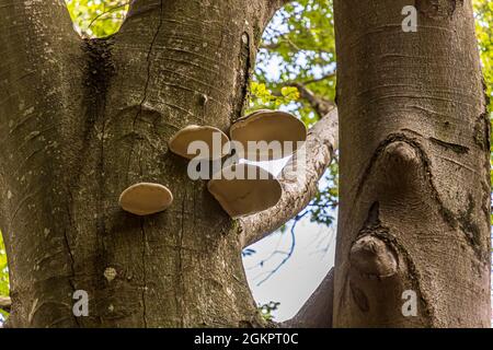
[[[214,149],[214,135],[220,135],[221,148]],[[295,116],[278,110],[257,110],[237,120],[230,128],[230,137],[239,142],[243,150],[248,150],[249,142],[278,141],[283,148],[283,156],[296,152],[297,145],[305,142],[307,128]],[[194,141],[203,141],[213,150],[209,161],[221,160],[230,154],[228,145],[230,138],[210,126],[187,126],[177,131],[169,142],[170,150],[188,160],[197,158],[197,154],[188,153],[188,145]],[[290,142],[291,147],[285,149]],[[265,144],[265,143],[264,143]],[[267,153],[265,153],[267,152]],[[259,159],[273,161],[279,159],[277,154],[255,148],[255,151],[245,152],[242,158],[248,161]],[[242,174],[256,174],[254,179],[236,178],[234,176],[220,176],[208,182],[209,192],[221,205],[222,209],[231,217],[238,218],[253,214],[275,206],[283,194],[280,183],[268,172],[260,166],[249,163],[233,163],[221,170],[222,174],[243,172]],[[119,197],[121,207],[137,215],[150,215],[168,209],[173,202],[173,195],[163,185],[139,183],[128,187]]]

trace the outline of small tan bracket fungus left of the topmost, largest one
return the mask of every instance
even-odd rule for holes
[[[202,143],[192,144],[202,141]],[[203,158],[219,160],[229,153],[229,138],[220,129],[210,126],[190,125],[170,140],[171,152],[192,160]]]

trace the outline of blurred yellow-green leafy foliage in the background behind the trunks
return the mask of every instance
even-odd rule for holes
[[[83,37],[105,37],[117,32],[129,3],[125,0],[66,2],[74,30]],[[493,2],[473,0],[473,5],[488,95],[493,96]],[[289,110],[310,126],[322,117],[321,104],[326,106],[334,101],[334,73],[332,0],[291,2],[275,15],[264,35],[250,89],[249,109]],[[337,206],[337,162],[328,170],[322,183],[319,195],[299,218],[309,214],[310,220],[331,225]],[[294,229],[295,224],[296,221],[288,223],[284,230]],[[254,252],[245,250],[245,254]],[[7,256],[0,235],[0,295],[8,294]],[[264,305],[266,317],[277,306],[275,303]]]

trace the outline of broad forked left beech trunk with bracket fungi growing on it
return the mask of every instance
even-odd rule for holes
[[[121,32],[80,40],[58,0],[0,3],[1,229],[11,327],[263,326],[242,232],[167,141],[228,131],[282,1],[134,1]],[[138,182],[165,212],[118,207]],[[116,273],[116,276],[115,276]],[[76,290],[89,316],[72,314]]]

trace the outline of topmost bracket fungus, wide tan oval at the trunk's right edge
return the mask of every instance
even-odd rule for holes
[[[250,161],[289,156],[307,140],[307,127],[301,120],[289,113],[268,109],[238,119],[229,133],[231,140],[243,148],[244,155],[241,158]]]

